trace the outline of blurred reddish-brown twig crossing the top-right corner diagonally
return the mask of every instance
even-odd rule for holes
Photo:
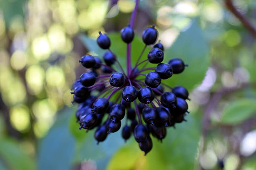
[[[250,21],[240,13],[240,11],[234,6],[232,0],[225,0],[225,5],[230,10],[231,13],[233,13],[238,20],[241,21],[241,23],[246,27],[254,38],[256,38],[256,28],[250,23]]]

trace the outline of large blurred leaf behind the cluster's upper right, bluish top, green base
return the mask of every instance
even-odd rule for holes
[[[171,87],[182,85],[188,90],[192,90],[205,77],[205,72],[209,66],[208,53],[209,47],[202,30],[194,21],[186,31],[180,33],[174,44],[164,52],[164,62],[168,62],[172,58],[181,58],[189,66],[182,73],[173,75],[163,82]]]

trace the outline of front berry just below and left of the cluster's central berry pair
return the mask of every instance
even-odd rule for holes
[[[122,120],[123,117],[125,116],[125,107],[122,104],[117,103],[111,106],[109,115],[113,122],[117,120]]]

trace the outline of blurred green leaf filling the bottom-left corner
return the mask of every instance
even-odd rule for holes
[[[34,170],[36,168],[34,160],[26,155],[18,142],[10,138],[0,140],[0,158],[8,169]]]

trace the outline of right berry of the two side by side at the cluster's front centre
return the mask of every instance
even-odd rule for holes
[[[149,87],[142,87],[138,91],[138,100],[144,104],[151,103],[155,98],[154,92]]]

